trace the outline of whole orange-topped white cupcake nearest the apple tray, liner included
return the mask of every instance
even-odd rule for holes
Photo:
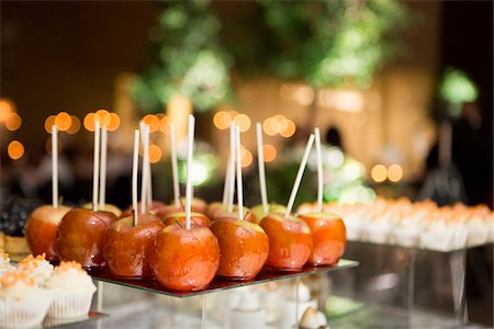
[[[79,263],[61,262],[45,287],[53,293],[48,317],[66,319],[88,315],[96,286]]]

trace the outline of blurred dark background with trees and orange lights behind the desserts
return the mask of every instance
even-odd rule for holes
[[[90,200],[96,116],[111,132],[106,200],[130,203],[132,131],[144,120],[154,194],[169,201],[168,122],[181,138],[194,113],[193,180],[206,201],[221,198],[234,121],[248,205],[259,203],[260,122],[270,201],[287,202],[317,126],[326,201],[492,208],[492,12],[490,1],[2,1],[2,203],[49,203],[53,124],[61,195]],[[315,198],[314,168],[297,203]],[[437,170],[459,188],[427,183]]]

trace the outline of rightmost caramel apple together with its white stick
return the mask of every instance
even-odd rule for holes
[[[345,224],[335,214],[323,213],[323,156],[321,150],[319,128],[315,128],[315,145],[317,154],[317,211],[301,214],[312,231],[313,249],[307,263],[313,265],[333,265],[341,258],[347,241]]]

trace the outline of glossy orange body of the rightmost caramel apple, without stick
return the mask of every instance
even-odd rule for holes
[[[313,249],[307,263],[312,265],[334,265],[345,252],[347,232],[345,224],[334,214],[310,213],[299,215],[312,232]]]

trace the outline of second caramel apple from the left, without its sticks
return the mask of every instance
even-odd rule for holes
[[[106,229],[115,220],[115,214],[110,212],[68,212],[58,225],[56,246],[60,261],[76,261],[86,269],[104,266]]]

